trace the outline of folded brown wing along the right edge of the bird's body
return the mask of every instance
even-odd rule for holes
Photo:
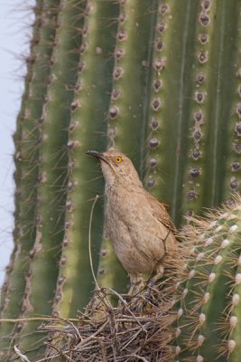
[[[170,215],[167,213],[169,209],[169,205],[160,203],[153,195],[146,192],[147,201],[150,203],[153,216],[162,223],[168,230],[171,232],[175,232],[176,228],[171,221]]]

